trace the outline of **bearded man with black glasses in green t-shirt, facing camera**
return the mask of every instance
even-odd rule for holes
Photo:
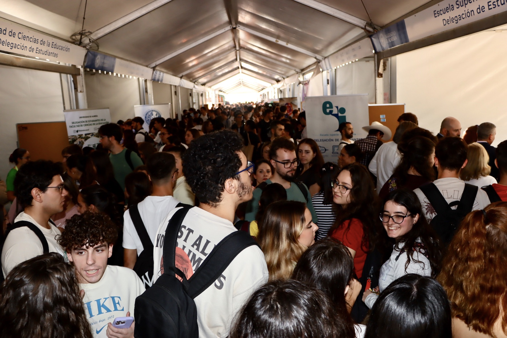
[[[305,202],[312,214],[312,221],[317,223],[317,214],[313,208],[312,198],[308,187],[305,186],[304,183],[294,181],[296,168],[299,165],[294,142],[291,142],[284,137],[274,139],[269,149],[269,157],[271,159],[274,172],[273,176],[266,180],[265,183],[279,183],[287,192],[287,200]],[[255,216],[259,210],[259,199],[261,199],[263,189],[264,186],[262,183],[253,191],[253,198],[246,206],[245,220],[255,220]]]

